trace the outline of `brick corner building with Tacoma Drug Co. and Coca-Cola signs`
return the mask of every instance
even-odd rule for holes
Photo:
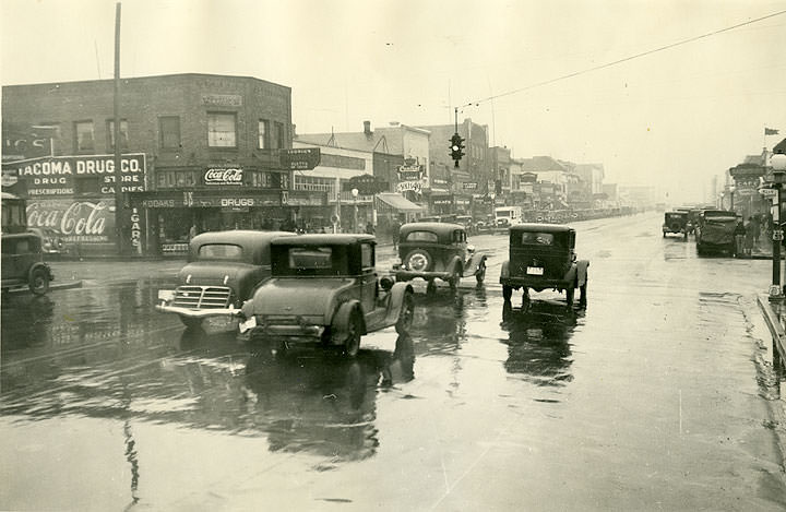
[[[2,88],[4,139],[7,124],[53,133],[48,156],[3,158],[3,182],[15,181],[14,191],[37,213],[34,221],[43,219],[76,252],[116,252],[117,207],[123,209],[119,236],[146,255],[183,253],[191,226],[293,223],[289,201],[305,198],[290,190],[291,171],[281,156],[291,148],[289,87],[196,73],[122,79],[119,117],[127,164],[115,174],[112,80]],[[115,204],[117,182],[122,204]],[[69,225],[88,217],[91,234],[69,233]]]

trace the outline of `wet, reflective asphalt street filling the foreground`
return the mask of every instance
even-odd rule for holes
[[[486,284],[421,284],[352,361],[184,333],[181,262],[55,262],[83,287],[2,302],[0,510],[783,510],[771,263],[660,221],[574,225],[586,308],[507,308],[507,237],[472,237]]]

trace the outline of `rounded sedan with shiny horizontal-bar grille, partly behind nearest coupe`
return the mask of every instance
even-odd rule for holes
[[[175,313],[198,329],[209,317],[233,319],[271,275],[271,241],[290,231],[228,230],[196,235],[175,289],[158,290],[158,311]]]

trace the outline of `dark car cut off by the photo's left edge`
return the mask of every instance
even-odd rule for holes
[[[25,201],[2,192],[2,273],[3,294],[11,288],[27,286],[35,295],[49,290],[55,278],[44,261],[41,238],[27,229]]]

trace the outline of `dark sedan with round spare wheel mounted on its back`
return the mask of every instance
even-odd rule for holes
[[[486,277],[488,255],[467,246],[466,229],[460,224],[412,223],[398,231],[398,257],[393,265],[396,281],[420,277],[428,282],[426,290],[436,289],[436,279],[446,282],[451,289],[462,277],[475,276],[477,283]]]

